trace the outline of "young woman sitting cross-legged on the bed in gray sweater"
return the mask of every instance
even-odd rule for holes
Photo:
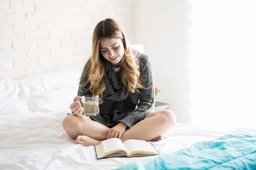
[[[78,99],[98,94],[100,113],[88,117]],[[93,32],[92,55],[84,66],[78,96],[73,99],[62,126],[76,144],[97,145],[119,138],[158,141],[176,121],[169,110],[154,112],[155,91],[151,63],[132,51],[116,21],[100,21]]]

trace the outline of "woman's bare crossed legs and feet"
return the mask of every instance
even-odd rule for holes
[[[154,140],[162,139],[161,134],[169,130],[176,121],[175,113],[162,110],[148,114],[141,122],[122,134],[121,140],[128,139]],[[67,135],[84,146],[96,145],[107,139],[110,128],[92,121],[86,116],[70,114],[62,122]]]

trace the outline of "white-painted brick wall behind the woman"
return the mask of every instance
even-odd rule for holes
[[[0,0],[0,78],[82,69],[111,17],[134,41],[134,0]]]

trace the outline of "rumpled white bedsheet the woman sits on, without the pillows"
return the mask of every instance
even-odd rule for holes
[[[143,159],[118,157],[97,160],[93,146],[75,144],[64,132],[61,121],[68,112],[0,114],[0,169],[107,170]],[[161,154],[222,134],[176,123],[169,132],[163,134],[163,140],[153,144]]]

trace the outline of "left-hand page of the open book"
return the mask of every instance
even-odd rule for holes
[[[125,147],[121,141],[121,139],[118,138],[111,138],[105,141],[102,141],[102,146],[105,153],[108,153],[112,150],[125,150]]]

